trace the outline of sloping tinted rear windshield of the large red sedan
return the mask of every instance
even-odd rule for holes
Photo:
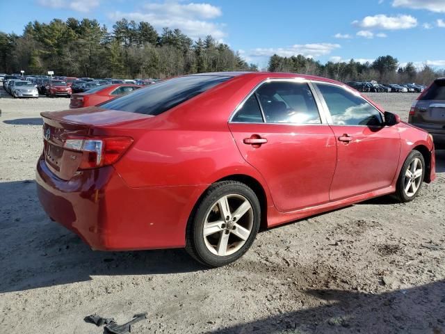
[[[100,106],[104,109],[156,116],[230,78],[219,75],[177,77],[138,89],[134,93],[118,97]]]

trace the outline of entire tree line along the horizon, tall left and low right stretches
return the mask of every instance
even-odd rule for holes
[[[179,29],[160,33],[148,22],[120,19],[111,30],[96,19],[53,19],[49,24],[29,22],[22,35],[0,31],[0,72],[70,77],[168,78],[181,74],[220,71],[256,71],[237,52],[211,35],[193,40]],[[302,55],[273,55],[270,72],[294,72],[338,81],[429,84],[445,76],[428,65],[401,67],[397,58],[378,57],[372,63],[329,61],[322,64]]]

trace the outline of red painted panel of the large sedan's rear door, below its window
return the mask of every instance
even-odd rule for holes
[[[230,129],[244,159],[267,180],[280,212],[330,201],[337,147],[329,126],[233,123]],[[255,134],[268,142],[259,148],[243,143]]]

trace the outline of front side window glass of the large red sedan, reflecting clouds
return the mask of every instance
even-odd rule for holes
[[[339,86],[316,84],[331,114],[333,125],[379,126],[382,114],[369,102]]]

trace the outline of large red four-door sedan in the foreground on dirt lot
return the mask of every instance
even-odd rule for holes
[[[435,179],[427,132],[319,77],[195,74],[42,117],[40,202],[99,250],[185,247],[218,267],[260,228],[410,202]]]

